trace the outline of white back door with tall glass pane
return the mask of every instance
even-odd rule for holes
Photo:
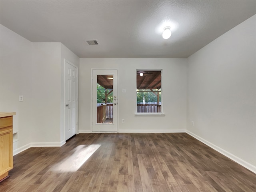
[[[92,70],[92,132],[117,132],[117,70]]]

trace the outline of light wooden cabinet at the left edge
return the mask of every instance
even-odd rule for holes
[[[0,113],[0,181],[7,178],[13,168],[12,116],[16,113]]]

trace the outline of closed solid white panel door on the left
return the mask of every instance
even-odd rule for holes
[[[65,140],[76,134],[77,68],[65,60]]]

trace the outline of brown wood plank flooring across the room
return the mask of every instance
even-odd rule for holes
[[[86,133],[14,156],[0,192],[256,192],[256,174],[186,133]]]

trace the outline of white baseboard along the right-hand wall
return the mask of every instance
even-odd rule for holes
[[[210,148],[220,152],[222,155],[230,158],[231,160],[233,160],[234,162],[242,165],[243,167],[247,168],[248,170],[254,172],[256,174],[256,166],[253,166],[252,164],[240,159],[239,157],[231,154],[230,152],[227,152],[226,150],[204,140],[203,138],[197,136],[196,134],[190,132],[190,131],[186,131],[187,134],[191,135],[192,137],[196,138],[197,140],[201,141],[202,143],[206,144],[207,146],[209,146]]]

